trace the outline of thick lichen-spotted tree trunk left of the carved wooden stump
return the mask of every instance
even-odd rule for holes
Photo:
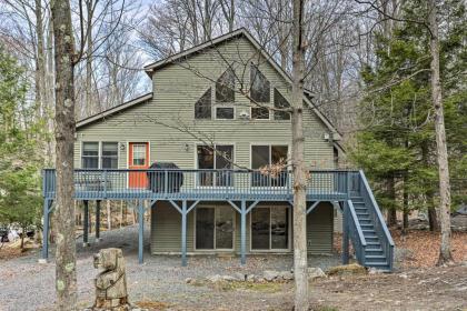
[[[74,41],[68,0],[51,2],[56,61],[56,290],[57,309],[77,309],[73,209]]]

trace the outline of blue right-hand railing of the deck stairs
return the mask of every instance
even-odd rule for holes
[[[372,191],[368,184],[368,180],[365,177],[364,171],[359,171],[360,175],[360,195],[364,199],[365,205],[368,209],[368,213],[371,219],[371,223],[375,227],[376,234],[381,242],[381,248],[385,255],[388,259],[389,270],[393,270],[394,263],[394,241],[390,237],[388,227],[386,225],[385,219],[382,218],[381,210],[372,195]]]

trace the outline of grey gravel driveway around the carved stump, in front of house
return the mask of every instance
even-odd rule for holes
[[[146,225],[148,228],[149,225]],[[131,301],[166,302],[173,310],[266,310],[290,301],[291,284],[281,284],[276,292],[217,291],[208,287],[187,284],[187,278],[202,279],[211,274],[261,273],[264,270],[290,270],[290,255],[248,257],[240,267],[239,258],[189,257],[188,267],[181,267],[180,257],[150,255],[149,230],[145,232],[145,263],[138,264],[138,228],[127,227],[102,232],[102,241],[82,248],[77,240],[79,305],[92,304],[92,279],[97,270],[92,267],[92,254],[100,248],[121,248],[127,261],[127,280]],[[51,254],[53,251],[51,251]],[[54,300],[54,265],[39,264],[39,252],[27,257],[0,261],[0,311],[3,310],[52,310]],[[338,257],[310,258],[310,267],[339,264]],[[209,308],[207,308],[209,305]]]

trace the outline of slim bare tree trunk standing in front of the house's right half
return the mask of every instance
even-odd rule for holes
[[[294,170],[294,274],[295,310],[308,310],[308,263],[307,263],[307,173],[304,161],[304,0],[294,0],[292,22],[292,170]]]

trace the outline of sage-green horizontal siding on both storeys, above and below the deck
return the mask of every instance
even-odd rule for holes
[[[249,63],[259,62],[259,69],[270,81],[271,104],[274,88],[290,101],[287,82],[246,39],[227,41],[216,49],[205,50],[181,63],[173,63],[157,70],[152,76],[153,98],[137,104],[102,121],[90,123],[77,131],[74,147],[74,165],[81,167],[82,141],[118,141],[119,168],[127,168],[128,142],[148,141],[150,143],[150,162],[170,161],[182,169],[196,168],[196,146],[201,141],[231,143],[235,146],[235,162],[240,168],[250,167],[251,144],[289,144],[291,143],[290,121],[241,120],[240,111],[249,112],[247,98],[236,93],[235,120],[195,120],[195,102],[208,88],[215,94],[216,80],[226,70],[227,64],[219,57],[235,63],[248,64],[245,71],[245,84],[248,86]],[[259,61],[258,61],[259,60]],[[241,74],[244,68],[238,68]],[[209,79],[207,79],[208,77]],[[212,100],[212,102],[215,102]],[[334,168],[332,144],[324,140],[328,129],[310,110],[304,111],[305,160],[312,168]],[[173,128],[179,128],[177,130]],[[195,133],[195,137],[192,136]],[[188,146],[188,150],[186,150]],[[181,218],[178,211],[167,202],[158,202],[151,218],[151,251],[179,252]],[[318,209],[311,217],[310,238],[311,253],[330,251],[332,238],[332,218]],[[330,211],[330,215],[332,213]],[[240,249],[240,217],[236,218],[236,252]],[[249,230],[249,215],[247,228]],[[188,251],[193,251],[193,212],[188,215]],[[249,231],[247,232],[249,237]],[[291,243],[291,240],[290,240]],[[249,238],[247,250],[250,250]]]

